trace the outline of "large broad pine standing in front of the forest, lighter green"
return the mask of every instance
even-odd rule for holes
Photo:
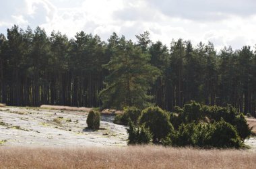
[[[159,70],[150,65],[150,56],[142,52],[139,46],[124,37],[116,37],[116,40],[119,45],[111,46],[115,53],[110,62],[103,65],[110,74],[105,80],[106,88],[100,92],[102,107],[146,107],[151,99],[148,89]]]

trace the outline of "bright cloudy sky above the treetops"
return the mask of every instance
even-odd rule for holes
[[[255,0],[1,0],[0,33],[18,24],[37,25],[69,38],[84,30],[107,40],[113,32],[169,46],[172,39],[213,42],[217,49],[256,44]]]

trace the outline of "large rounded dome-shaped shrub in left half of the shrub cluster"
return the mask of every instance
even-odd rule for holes
[[[154,143],[159,143],[168,133],[174,131],[168,113],[159,107],[148,107],[144,109],[141,117],[139,117],[139,124],[144,124],[145,127],[150,129]]]

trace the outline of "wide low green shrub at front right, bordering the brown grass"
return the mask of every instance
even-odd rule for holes
[[[198,146],[206,148],[240,148],[242,146],[236,128],[224,119],[214,123],[181,124],[172,135],[173,146]]]

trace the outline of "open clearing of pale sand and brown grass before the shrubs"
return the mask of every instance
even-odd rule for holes
[[[249,150],[128,147],[126,127],[113,115],[102,115],[98,131],[85,129],[87,115],[0,107],[0,168],[255,168],[255,137],[245,141]]]

